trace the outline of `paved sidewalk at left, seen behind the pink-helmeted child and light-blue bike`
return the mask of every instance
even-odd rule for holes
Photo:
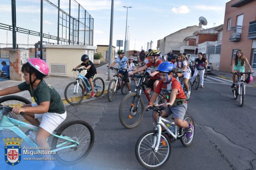
[[[97,69],[97,75],[96,77],[101,77],[104,80],[105,83],[105,90],[104,90],[104,94],[107,94],[108,91],[108,84],[110,81],[107,81],[108,79],[108,68],[107,68],[108,64],[102,65]],[[113,73],[113,71],[112,71]],[[77,78],[77,76],[75,76],[75,79]],[[111,76],[112,78],[112,76]],[[70,83],[74,81],[73,77],[61,77],[61,76],[47,76],[46,78],[44,78],[44,80],[46,82],[48,82],[50,85],[52,85],[53,88],[55,88],[55,90],[60,94],[61,99],[63,100],[64,104],[67,103],[67,101],[65,100],[64,97],[64,90],[66,88],[66,86]],[[11,86],[15,86],[20,84],[22,81],[13,81],[13,80],[6,80],[6,81],[0,81],[0,90],[4,89],[4,88],[8,88]],[[32,102],[32,98],[29,94],[28,91],[22,91],[20,93],[14,94],[17,96],[23,96],[26,99],[29,99]],[[87,99],[86,101],[91,101],[91,100],[95,100],[98,99],[96,97],[90,98],[90,95],[88,94],[87,96],[84,97],[84,99]]]

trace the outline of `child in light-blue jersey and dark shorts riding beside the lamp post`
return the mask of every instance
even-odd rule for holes
[[[125,54],[125,52],[122,50],[117,51],[117,54],[118,54],[117,59],[115,59],[115,61],[108,67],[113,67],[117,62],[119,64],[119,68],[123,68],[123,70],[118,71],[118,75],[119,75],[119,77],[121,77],[122,74],[124,75],[123,81],[126,82],[129,93],[131,93],[130,83],[129,83],[129,79],[128,79],[128,72],[127,72],[127,69],[129,68],[128,58],[123,56]]]

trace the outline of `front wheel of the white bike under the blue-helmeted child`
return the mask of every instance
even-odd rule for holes
[[[150,170],[160,168],[170,158],[171,142],[166,134],[161,134],[161,141],[157,152],[154,151],[154,138],[157,137],[156,130],[143,133],[137,141],[135,153],[139,163]]]

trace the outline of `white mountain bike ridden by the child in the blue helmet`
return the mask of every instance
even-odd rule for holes
[[[177,127],[174,122],[164,119],[161,114],[163,106],[149,107],[146,111],[154,110],[158,116],[157,125],[154,123],[154,130],[149,130],[143,133],[136,143],[135,153],[139,163],[148,169],[154,170],[160,168],[166,161],[169,160],[171,154],[171,143],[180,139],[183,146],[192,144],[195,134],[195,122],[187,114],[184,120],[194,126],[194,133],[191,138],[186,138],[185,128]],[[162,127],[166,133],[162,133]]]

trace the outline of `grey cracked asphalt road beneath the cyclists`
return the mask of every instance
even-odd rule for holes
[[[192,88],[187,113],[196,122],[193,144],[184,147],[179,140],[172,145],[168,162],[161,170],[253,170],[256,167],[256,88],[246,87],[244,106],[234,100],[231,82],[210,75],[204,89]],[[95,142],[89,155],[63,170],[143,170],[135,156],[137,139],[153,129],[151,112],[142,122],[126,129],[119,122],[123,99],[107,96],[78,106],[67,105],[67,120],[81,119],[94,129]],[[147,104],[144,96],[144,103]],[[60,167],[60,165],[57,165]],[[58,169],[58,168],[55,168]]]

